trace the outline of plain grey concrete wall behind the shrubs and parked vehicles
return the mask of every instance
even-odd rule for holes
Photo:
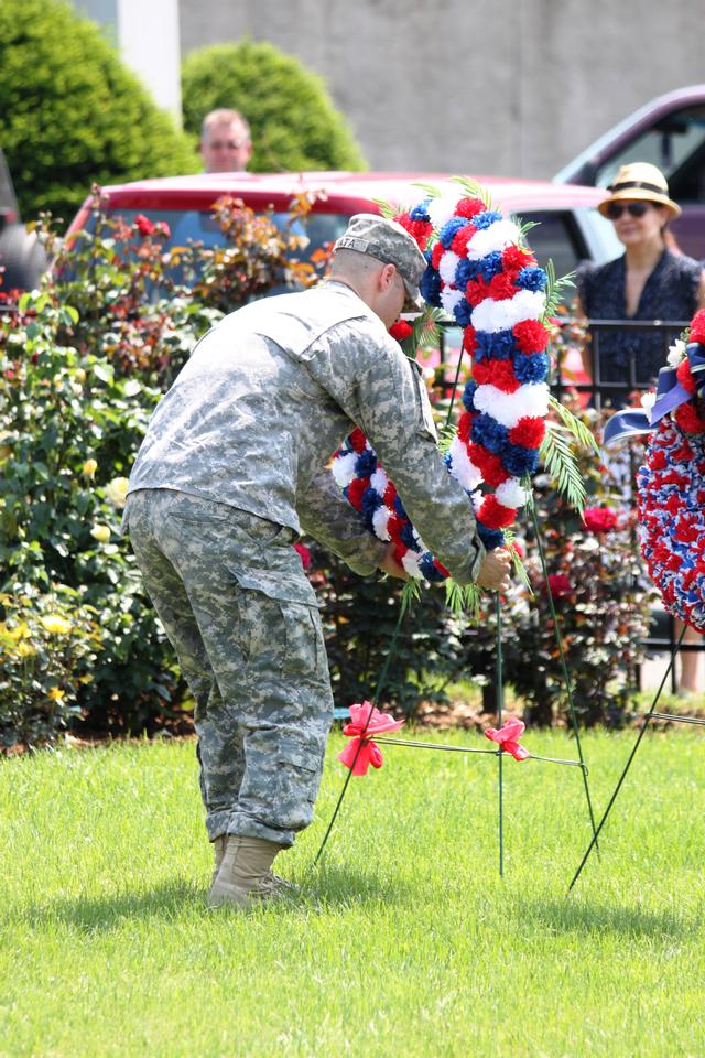
[[[180,11],[183,54],[249,34],[321,74],[373,169],[550,176],[653,96],[705,79],[701,0],[180,0]]]

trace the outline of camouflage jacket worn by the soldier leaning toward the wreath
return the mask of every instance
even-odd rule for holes
[[[326,469],[356,425],[426,546],[459,583],[474,580],[485,551],[438,455],[420,369],[343,283],[262,299],[209,331],[154,412],[129,492],[230,504],[308,532],[369,573],[386,546]]]

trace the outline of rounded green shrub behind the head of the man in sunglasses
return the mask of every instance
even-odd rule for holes
[[[252,172],[364,168],[324,82],[264,41],[192,52],[183,65],[184,126],[194,136],[209,110],[234,107],[252,131]]]

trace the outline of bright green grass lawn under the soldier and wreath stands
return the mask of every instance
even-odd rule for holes
[[[487,745],[475,735],[424,738]],[[596,808],[634,738],[585,738]],[[573,756],[560,732],[529,748]],[[348,790],[334,738],[278,868],[308,899],[205,906],[193,743],[0,764],[0,1055],[702,1056],[705,741],[649,735],[576,890],[581,774],[384,748]]]

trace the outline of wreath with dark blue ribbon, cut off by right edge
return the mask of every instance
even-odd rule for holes
[[[637,474],[641,551],[666,611],[705,633],[703,393],[705,310],[693,317],[687,344],[679,339],[671,347],[658,392],[642,399],[647,424],[640,429],[638,413],[622,412],[610,420],[610,434],[651,432]]]

